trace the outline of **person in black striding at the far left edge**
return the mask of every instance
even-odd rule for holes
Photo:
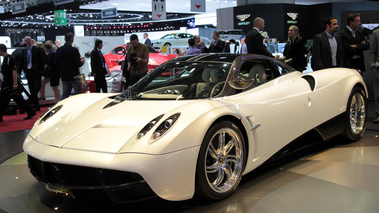
[[[18,80],[16,59],[7,53],[7,47],[4,44],[0,44],[0,56],[4,57],[1,64],[1,73],[4,76],[4,81],[0,90],[0,122],[3,121],[3,115],[11,99],[16,102],[21,110],[28,113],[28,116],[24,119],[31,119],[36,115],[36,112],[28,105],[21,94],[22,89]]]

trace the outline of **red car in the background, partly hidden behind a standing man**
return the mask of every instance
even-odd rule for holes
[[[149,63],[148,63],[148,72],[155,69],[157,66],[163,64],[164,62],[178,57],[174,54],[163,54],[158,53],[155,49],[149,48]],[[105,62],[108,64],[109,72],[112,74],[113,71],[121,71],[121,65],[117,61],[125,60],[126,55],[126,46],[120,45],[111,50],[110,53],[104,55]]]

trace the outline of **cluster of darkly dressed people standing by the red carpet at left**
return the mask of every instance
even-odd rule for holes
[[[0,44],[0,55],[3,56],[1,73],[3,81],[0,91],[0,122],[6,113],[11,99],[19,106],[20,111],[27,112],[25,120],[31,119],[40,111],[39,100],[45,100],[46,84],[54,91],[55,102],[71,95],[72,88],[75,94],[83,92],[82,84],[74,79],[79,75],[79,67],[84,64],[77,48],[73,47],[74,34],[65,35],[65,44],[59,47],[60,41],[55,44],[48,40],[45,43],[35,42],[30,36],[24,38],[25,48],[17,61],[7,53],[7,47]],[[58,48],[59,47],[59,48]],[[21,82],[21,72],[25,73],[29,91]],[[59,84],[62,83],[62,95]],[[24,99],[22,93],[28,98]],[[38,97],[39,94],[39,97]]]

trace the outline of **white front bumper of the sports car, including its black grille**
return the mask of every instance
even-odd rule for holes
[[[112,154],[48,146],[28,135],[23,148],[32,174],[45,188],[59,194],[75,196],[77,191],[101,190],[114,192],[108,197],[116,202],[151,197],[151,191],[171,201],[194,195],[199,147],[162,155]],[[136,190],[142,193],[133,197]],[[126,195],[126,200],[115,199],[118,193]]]

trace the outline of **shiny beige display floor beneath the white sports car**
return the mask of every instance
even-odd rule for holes
[[[13,143],[23,141],[23,137],[5,138],[13,139]],[[379,209],[378,156],[379,131],[367,130],[358,142],[331,140],[253,171],[243,177],[235,194],[219,202],[199,199],[169,202],[153,198],[114,204],[73,200],[47,192],[29,173],[26,154],[21,152],[0,164],[0,213],[372,213]]]

